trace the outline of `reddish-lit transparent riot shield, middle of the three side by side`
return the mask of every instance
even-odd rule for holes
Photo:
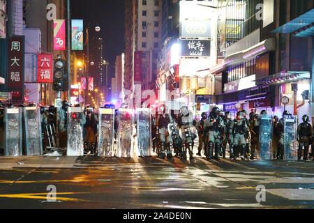
[[[133,157],[133,109],[119,109],[117,157]]]

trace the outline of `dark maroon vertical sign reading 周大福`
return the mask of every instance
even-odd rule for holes
[[[13,102],[24,101],[24,36],[13,36],[8,49],[8,92]]]

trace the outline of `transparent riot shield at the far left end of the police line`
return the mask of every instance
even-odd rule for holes
[[[22,108],[6,109],[6,156],[22,156]]]

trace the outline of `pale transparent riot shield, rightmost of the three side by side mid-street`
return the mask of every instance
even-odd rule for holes
[[[136,109],[138,156],[151,156],[151,112],[149,109]]]

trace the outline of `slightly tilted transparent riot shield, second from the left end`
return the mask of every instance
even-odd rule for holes
[[[27,155],[43,155],[40,109],[25,107],[24,122]]]

